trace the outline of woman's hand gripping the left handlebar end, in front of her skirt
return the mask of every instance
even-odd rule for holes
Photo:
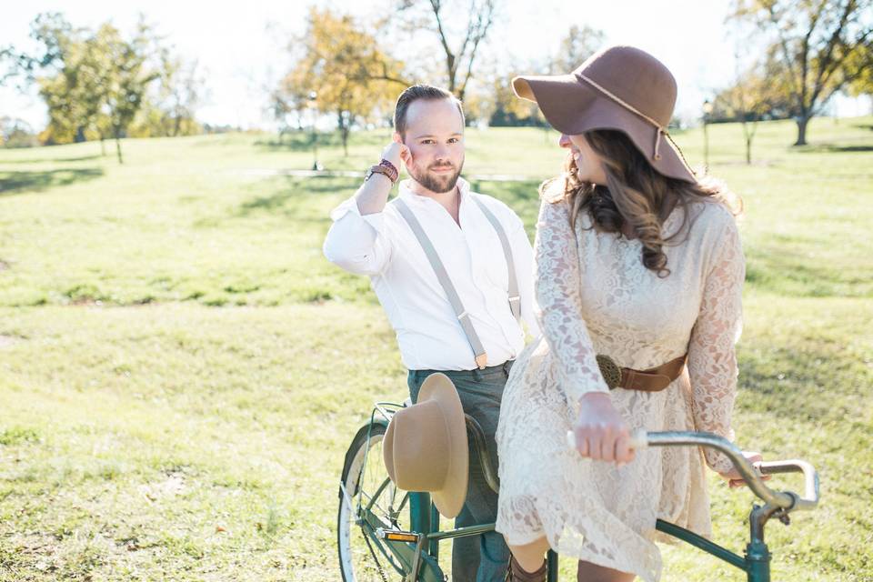
[[[579,455],[624,465],[634,460],[630,432],[608,394],[592,392],[579,401],[579,416],[573,426]]]

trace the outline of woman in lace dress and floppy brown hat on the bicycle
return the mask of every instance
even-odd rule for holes
[[[641,50],[513,86],[569,153],[541,187],[543,338],[517,358],[497,427],[507,579],[544,580],[553,547],[579,559],[580,581],[657,580],[657,518],[707,536],[704,465],[742,483],[715,452],[629,448],[638,428],[733,437],[745,266],[728,192],[668,139],[676,82]]]

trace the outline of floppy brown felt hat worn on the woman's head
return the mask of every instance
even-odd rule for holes
[[[630,137],[660,174],[696,182],[667,134],[676,79],[660,61],[633,46],[611,46],[568,75],[517,76],[516,95],[534,101],[549,124],[567,135],[616,129]]]

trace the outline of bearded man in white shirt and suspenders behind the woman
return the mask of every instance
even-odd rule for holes
[[[413,402],[427,376],[437,371],[449,376],[464,411],[484,429],[497,467],[500,398],[525,345],[518,316],[531,336],[539,335],[532,312],[530,242],[512,210],[471,192],[459,177],[464,111],[454,95],[429,85],[408,87],[397,99],[394,125],[394,141],[380,165],[371,167],[355,196],[331,213],[325,256],[351,273],[370,276],[396,331]],[[400,183],[398,196],[388,203],[401,161],[411,179]],[[433,256],[410,220],[430,241],[447,277],[437,275]],[[446,278],[454,291],[447,290]],[[513,279],[518,291],[510,296]],[[451,295],[457,296],[454,303]],[[475,456],[469,479],[456,527],[494,522],[497,494]],[[509,551],[492,532],[457,538],[452,556],[454,580],[497,582],[505,577]]]

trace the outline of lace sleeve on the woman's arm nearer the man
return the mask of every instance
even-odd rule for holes
[[[581,275],[576,234],[566,203],[543,201],[534,248],[537,319],[557,357],[571,406],[587,392],[608,392],[582,318]]]

